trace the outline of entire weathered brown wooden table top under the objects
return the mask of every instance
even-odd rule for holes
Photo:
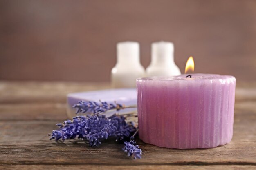
[[[137,139],[143,158],[132,160],[122,144],[101,147],[55,143],[47,136],[67,119],[66,94],[109,88],[108,83],[0,82],[0,170],[5,169],[256,169],[256,83],[238,84],[234,136],[211,149],[159,148]]]

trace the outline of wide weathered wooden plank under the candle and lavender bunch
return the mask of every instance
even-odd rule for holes
[[[56,144],[47,133],[55,121],[0,121],[0,164],[89,165],[256,165],[256,114],[235,115],[231,144],[210,149],[159,148],[137,139],[143,159],[132,161],[123,144],[107,141],[91,148],[83,142]],[[8,155],[8,157],[6,156]]]

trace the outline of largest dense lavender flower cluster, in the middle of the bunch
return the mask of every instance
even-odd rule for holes
[[[76,116],[73,120],[66,120],[63,124],[56,124],[60,130],[53,130],[50,140],[82,139],[88,141],[90,146],[99,146],[100,139],[108,139],[109,136],[117,137],[116,141],[129,137],[135,128],[129,126],[123,116],[105,115]]]

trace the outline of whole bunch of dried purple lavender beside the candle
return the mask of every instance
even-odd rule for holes
[[[84,102],[80,101],[75,104],[73,108],[77,108],[76,113],[92,113],[93,115],[79,115],[73,117],[72,120],[66,120],[62,124],[56,124],[60,129],[53,130],[49,134],[50,140],[56,141],[67,139],[81,139],[88,142],[90,146],[96,147],[101,144],[103,139],[108,139],[111,136],[116,138],[116,141],[122,141],[126,137],[132,138],[138,132],[132,122],[126,123],[126,117],[114,114],[110,117],[101,115],[108,110],[120,110],[124,107],[121,104],[109,104],[107,102]],[[129,114],[129,117],[131,115]],[[128,157],[132,156],[134,159],[141,158],[141,149],[135,144],[135,141],[124,142],[123,150],[128,153]]]

